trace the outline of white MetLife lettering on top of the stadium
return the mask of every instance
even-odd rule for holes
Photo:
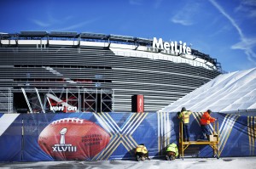
[[[162,38],[157,40],[156,37],[153,39],[153,48],[160,48],[162,50],[171,50],[174,53],[178,54],[191,54],[191,48],[186,46],[186,42],[179,41],[179,43],[175,42],[163,42]]]

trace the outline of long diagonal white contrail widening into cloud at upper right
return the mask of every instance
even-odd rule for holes
[[[229,14],[227,14],[224,11],[224,8],[218,5],[218,3],[215,2],[215,0],[209,0],[212,5],[218,9],[218,11],[224,15],[226,19],[230,21],[230,24],[233,25],[236,28],[236,31],[238,32],[241,42],[237,42],[235,45],[233,45],[232,49],[241,49],[244,50],[244,53],[247,55],[247,59],[250,62],[253,62],[254,65],[256,65],[256,54],[253,52],[253,48],[256,46],[256,38],[247,38],[245,37],[243,31],[241,30],[240,26],[236,24],[236,21],[230,17]],[[251,3],[251,1],[247,1],[247,3]]]

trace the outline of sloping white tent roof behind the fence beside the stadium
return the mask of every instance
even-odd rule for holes
[[[256,109],[256,68],[217,76],[159,111],[177,112],[182,107],[194,112]]]

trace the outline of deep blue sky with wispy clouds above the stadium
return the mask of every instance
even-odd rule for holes
[[[77,31],[183,41],[223,70],[256,67],[256,0],[0,0],[0,32]]]

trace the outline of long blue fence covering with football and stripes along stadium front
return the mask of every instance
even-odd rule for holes
[[[201,115],[190,115],[190,140],[201,137]],[[256,154],[256,116],[212,116],[219,123],[220,157]],[[0,114],[0,161],[129,160],[137,144],[162,158],[172,142],[178,144],[176,113]],[[191,146],[187,153],[212,157],[207,145]]]

